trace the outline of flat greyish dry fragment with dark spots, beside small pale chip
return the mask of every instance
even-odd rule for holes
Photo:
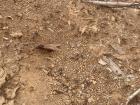
[[[120,78],[126,77],[121,69],[110,58],[103,56],[103,60],[109,65],[110,69],[114,71],[117,76],[119,76]]]

